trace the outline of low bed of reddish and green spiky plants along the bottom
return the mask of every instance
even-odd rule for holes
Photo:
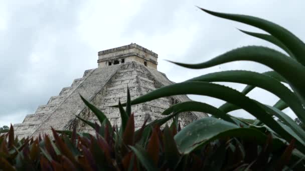
[[[181,129],[178,114],[146,124],[135,130],[131,113],[129,90],[126,110],[119,103],[122,123],[111,126],[102,111],[81,97],[95,113],[100,124],[86,122],[96,130],[95,135],[68,130],[54,130],[53,136],[44,135],[34,139],[14,138],[11,125],[6,135],[0,136],[0,169],[3,170],[244,170],[281,169],[289,163],[293,142],[278,145],[271,133],[265,137],[259,130],[251,133],[260,136],[242,138],[218,136],[209,138],[204,145],[194,144],[200,136],[209,133],[198,129],[198,124],[223,122],[214,117],[197,120]],[[173,119],[170,126],[161,125]],[[228,124],[235,128],[236,125]],[[212,133],[218,130],[209,130]],[[240,132],[249,133],[246,128]],[[6,140],[8,139],[8,141]],[[195,145],[189,146],[190,144]],[[297,165],[298,166],[298,165]]]

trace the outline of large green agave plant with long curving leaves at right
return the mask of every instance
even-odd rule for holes
[[[181,83],[175,83],[151,91],[131,101],[131,104],[153,100],[156,98],[179,95],[206,95],[226,101],[220,107],[210,104],[188,101],[175,104],[163,114],[184,111],[201,111],[213,115],[213,118],[202,118],[190,123],[175,135],[178,150],[184,154],[196,150],[216,138],[253,137],[259,142],[267,138],[265,131],[272,134],[273,148],[293,143],[292,155],[302,160],[305,155],[305,131],[282,110],[290,107],[302,123],[305,123],[305,44],[285,28],[253,16],[214,12],[201,8],[203,11],[221,17],[260,28],[269,34],[242,32],[267,40],[282,48],[286,54],[263,46],[244,46],[233,49],[215,58],[197,64],[173,62],[177,65],[202,69],[226,62],[248,60],[270,67],[273,70],[258,73],[246,70],[228,70],[201,75]],[[241,91],[212,82],[236,82],[247,84]],[[284,84],[287,83],[292,90]],[[280,99],[273,105],[263,104],[246,94],[255,87],[265,89]],[[230,115],[228,112],[244,109],[257,120],[243,119]],[[274,116],[282,122],[276,121]],[[192,139],[192,140],[191,140]]]

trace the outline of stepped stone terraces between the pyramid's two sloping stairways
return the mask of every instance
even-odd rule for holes
[[[155,90],[162,85],[156,82],[145,66],[134,62],[122,65],[107,82],[105,87],[91,100],[91,103],[105,113],[111,124],[117,125],[118,127],[121,123],[119,110],[111,106],[118,104],[119,99],[121,103],[126,102],[127,86],[131,99],[133,99],[139,95]],[[178,100],[176,99],[177,102]],[[132,105],[131,110],[134,112],[135,127],[139,128],[145,118],[148,118],[148,122],[150,122],[164,117],[161,113],[172,104],[172,99],[169,97]],[[79,115],[82,118],[99,123],[94,113],[88,107],[85,107]],[[180,118],[180,121],[183,125],[186,124],[183,118]],[[73,124],[76,124],[78,131],[94,134],[94,130],[90,126],[78,119],[75,119]],[[70,129],[72,129],[72,126],[70,126]]]

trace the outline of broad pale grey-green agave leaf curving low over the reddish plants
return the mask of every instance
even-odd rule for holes
[[[188,124],[175,135],[175,141],[181,153],[187,154],[199,146],[207,144],[221,137],[255,138],[257,143],[264,144],[267,136],[261,131],[253,128],[240,128],[225,120],[204,117]],[[277,150],[284,143],[279,139],[273,139],[272,148]]]

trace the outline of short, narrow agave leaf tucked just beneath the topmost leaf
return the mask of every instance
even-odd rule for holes
[[[282,42],[280,42],[277,38],[275,38],[274,36],[272,36],[270,34],[250,32],[250,31],[245,31],[245,30],[242,30],[242,29],[238,29],[238,30],[240,30],[241,32],[243,32],[245,34],[252,35],[254,37],[261,38],[263,40],[269,41],[272,44],[275,44],[278,47],[280,47],[281,49],[285,50],[289,54],[289,56],[291,56],[292,58],[295,58],[294,55],[291,53],[291,51]]]

